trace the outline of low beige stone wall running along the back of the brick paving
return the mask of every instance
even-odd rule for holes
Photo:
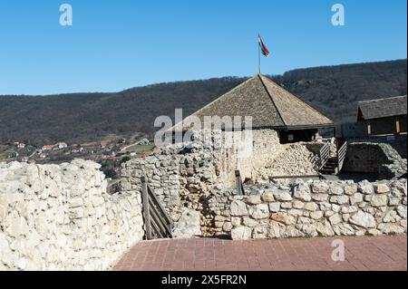
[[[214,196],[216,235],[233,239],[406,233],[406,180],[309,181]]]

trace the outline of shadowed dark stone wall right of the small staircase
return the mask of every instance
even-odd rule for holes
[[[355,142],[347,147],[343,170],[374,173],[378,178],[401,178],[406,175],[406,159],[386,143]]]

